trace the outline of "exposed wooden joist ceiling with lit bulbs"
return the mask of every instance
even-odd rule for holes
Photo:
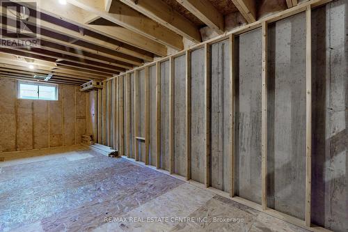
[[[113,77],[167,56],[169,50],[180,51],[186,48],[184,40],[198,44],[202,29],[221,35],[228,15],[240,14],[251,23],[268,6],[267,13],[275,13],[297,5],[296,0],[13,2],[15,10],[0,10],[1,35],[12,32],[12,37],[1,36],[0,77],[78,85]],[[20,30],[18,21],[24,25]],[[40,46],[11,44],[32,31]]]

